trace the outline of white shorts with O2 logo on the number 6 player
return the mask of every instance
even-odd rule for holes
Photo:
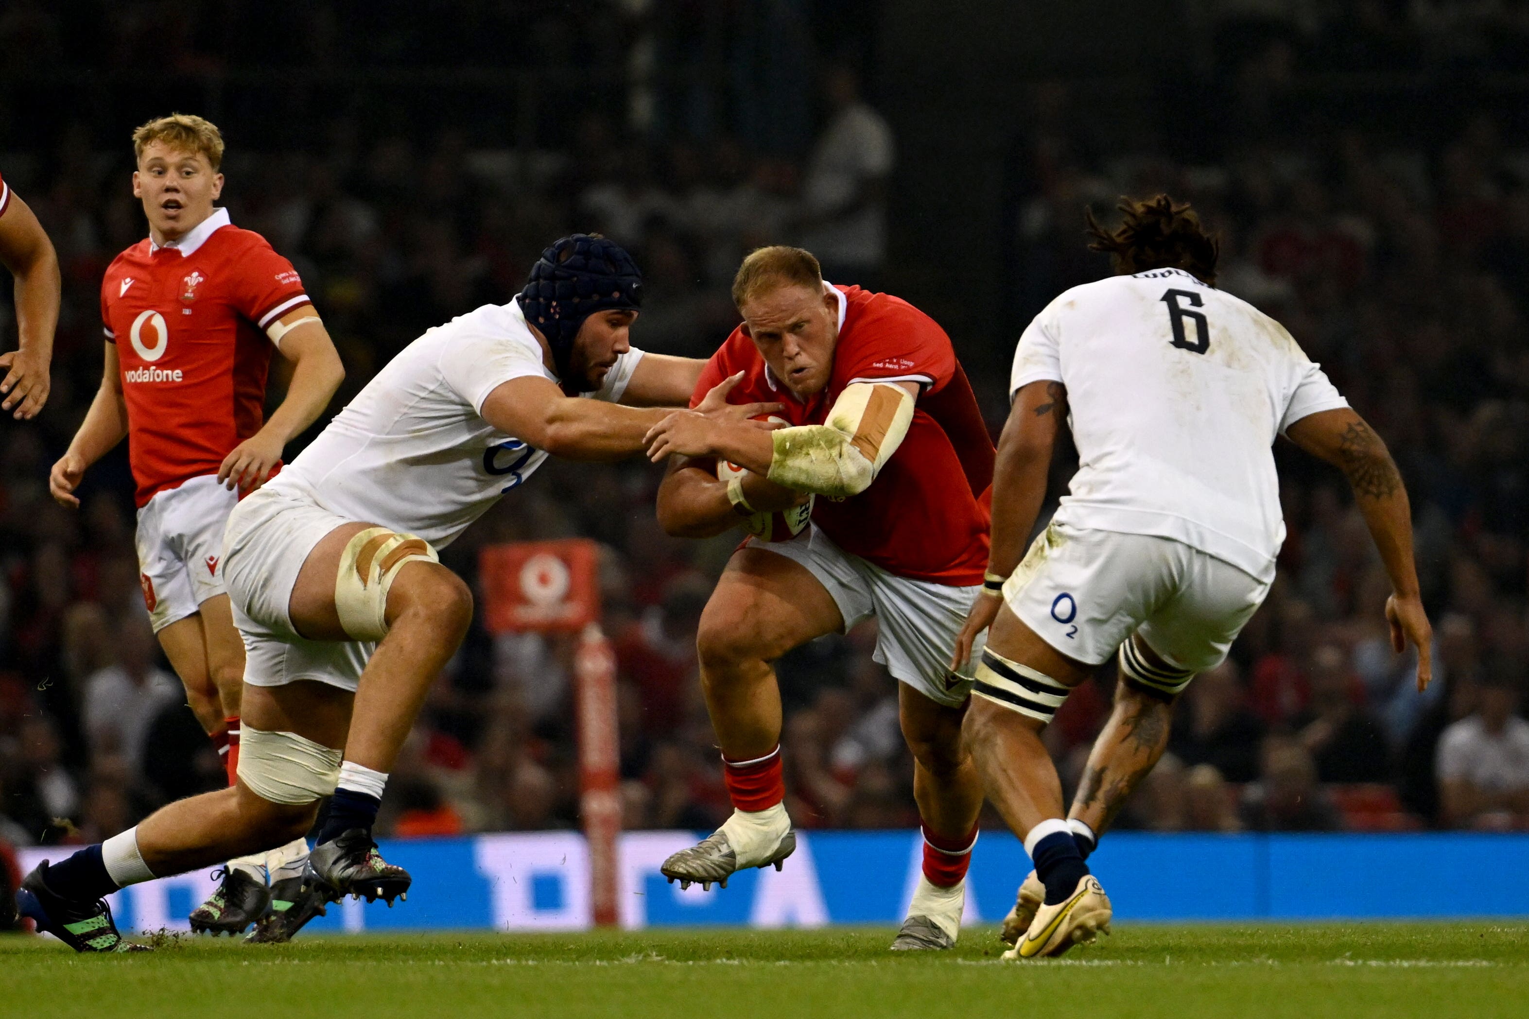
[[[1101,665],[1139,632],[1168,665],[1226,658],[1269,584],[1171,538],[1052,524],[1003,585],[1009,611],[1069,658]]]

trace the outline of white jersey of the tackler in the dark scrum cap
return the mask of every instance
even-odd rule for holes
[[[621,354],[592,396],[619,400],[641,359]],[[480,416],[523,376],[557,382],[517,301],[454,318],[393,357],[268,487],[443,548],[547,458]]]

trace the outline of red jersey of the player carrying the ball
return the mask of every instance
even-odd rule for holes
[[[908,437],[868,489],[818,497],[812,519],[841,548],[890,573],[951,587],[982,584],[988,567],[992,438],[950,336],[890,293],[839,292],[839,339],[829,385],[806,403],[780,385],[742,328],[711,356],[691,406],[735,371],[734,403],[778,400],[792,425],[821,425],[852,382],[919,382]]]

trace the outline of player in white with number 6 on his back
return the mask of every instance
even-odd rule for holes
[[[1187,205],[1157,196],[1121,211],[1113,232],[1090,217],[1092,247],[1119,275],[1067,290],[1020,338],[992,481],[991,597],[956,648],[960,663],[991,626],[965,736],[1035,863],[1006,959],[1061,955],[1109,929],[1084,856],[1162,755],[1174,698],[1226,657],[1269,591],[1284,541],[1278,435],[1349,478],[1391,579],[1391,643],[1416,645],[1419,689],[1431,675],[1411,510],[1385,443],[1283,325],[1216,289],[1216,240]],[[1024,552],[1064,420],[1078,474]],[[1116,654],[1115,709],[1067,819],[1040,733]]]

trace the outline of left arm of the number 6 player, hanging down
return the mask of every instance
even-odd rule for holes
[[[998,455],[992,464],[992,538],[988,550],[986,597],[979,597],[966,625],[956,637],[951,668],[960,669],[971,657],[971,645],[992,625],[1003,605],[1001,591],[994,587],[1014,573],[1024,558],[1024,545],[1035,529],[1041,503],[1046,501],[1046,475],[1050,472],[1057,435],[1067,420],[1067,387],[1061,382],[1031,382],[1014,394],[1014,408],[998,437]]]

